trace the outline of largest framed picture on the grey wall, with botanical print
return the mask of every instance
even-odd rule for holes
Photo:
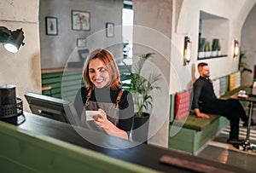
[[[78,31],[90,31],[90,13],[72,10],[72,29]]]

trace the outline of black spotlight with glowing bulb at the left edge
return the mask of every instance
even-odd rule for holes
[[[24,35],[22,28],[12,32],[4,26],[0,26],[0,43],[3,43],[3,47],[9,52],[17,53],[20,45],[23,43]]]

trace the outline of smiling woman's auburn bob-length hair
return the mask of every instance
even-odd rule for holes
[[[122,84],[120,82],[119,77],[119,68],[114,61],[113,54],[109,52],[107,49],[96,49],[88,55],[85,63],[84,63],[84,70],[83,70],[83,78],[84,83],[86,84],[88,89],[93,88],[93,84],[90,81],[89,77],[89,64],[91,60],[100,59],[103,64],[106,66],[109,76],[110,76],[110,87],[111,89],[119,89],[119,86]]]

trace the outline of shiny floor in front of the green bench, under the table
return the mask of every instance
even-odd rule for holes
[[[256,112],[253,114],[256,115]],[[245,128],[241,128],[240,138],[245,138],[245,131]],[[255,126],[253,126],[253,133],[256,133]],[[218,135],[213,141],[210,141],[209,145],[197,156],[256,172],[256,153],[236,149],[232,145],[226,143],[227,137],[227,130],[224,130],[223,133]],[[253,134],[252,139],[252,142],[256,144]]]

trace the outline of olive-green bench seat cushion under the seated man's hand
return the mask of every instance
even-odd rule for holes
[[[194,113],[190,113],[188,118],[182,118],[180,120],[174,120],[172,125],[180,126],[186,129],[201,131],[204,130],[209,124],[212,124],[219,115],[210,114],[209,119],[198,118]]]

